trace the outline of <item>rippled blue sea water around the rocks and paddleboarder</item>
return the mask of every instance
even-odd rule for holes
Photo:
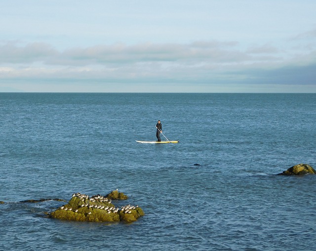
[[[135,142],[158,119],[180,142]],[[315,122],[316,94],[0,93],[0,250],[315,250],[316,176],[276,176],[316,168]],[[117,188],[144,217],[21,202]]]

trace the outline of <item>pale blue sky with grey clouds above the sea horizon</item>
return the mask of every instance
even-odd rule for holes
[[[0,92],[316,93],[315,0],[10,0]]]

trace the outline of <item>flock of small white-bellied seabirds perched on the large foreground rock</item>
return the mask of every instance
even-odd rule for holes
[[[100,194],[98,195],[93,195],[91,197],[89,197],[88,195],[85,194],[81,194],[79,192],[74,193],[73,197],[78,197],[81,201],[82,204],[80,205],[80,207],[87,207],[87,208],[96,208],[96,209],[102,209],[102,210],[106,210],[108,212],[108,214],[110,213],[118,213],[118,211],[120,210],[121,212],[123,212],[124,214],[130,214],[132,209],[136,209],[138,206],[131,206],[131,205],[126,205],[126,206],[122,206],[121,208],[116,208],[116,207],[109,207],[109,206],[104,206],[104,205],[93,205],[91,204],[91,202],[106,202],[106,203],[111,203],[112,200],[108,199],[107,197],[101,196]],[[88,200],[87,203],[86,200]],[[65,206],[60,207],[61,210],[65,210],[65,211],[72,211],[72,208],[67,208]],[[78,209],[76,209],[74,212],[78,212]],[[91,212],[88,212],[88,214],[90,215]]]

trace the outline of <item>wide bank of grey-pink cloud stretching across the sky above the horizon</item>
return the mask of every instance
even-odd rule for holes
[[[235,41],[214,40],[116,43],[58,51],[45,43],[7,42],[0,46],[0,55],[2,82],[316,85],[315,51],[288,56],[267,43],[243,50]]]

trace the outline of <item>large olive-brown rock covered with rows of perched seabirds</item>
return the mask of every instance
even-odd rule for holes
[[[116,192],[113,191],[115,194]],[[115,207],[112,199],[101,195],[88,195],[76,193],[68,204],[50,213],[51,218],[75,221],[124,221],[133,222],[144,212],[138,206]]]

